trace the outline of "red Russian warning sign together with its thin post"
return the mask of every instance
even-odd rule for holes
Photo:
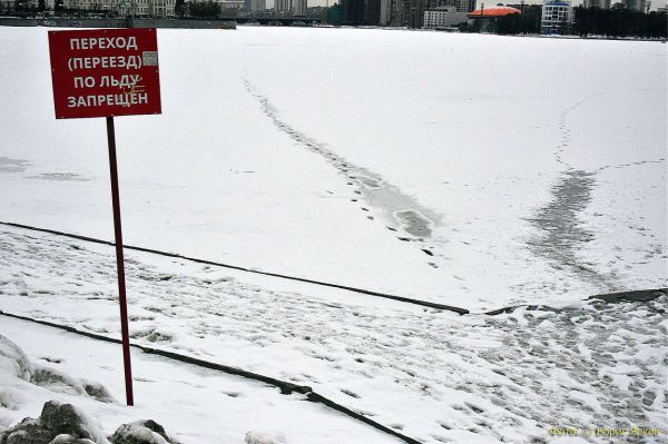
[[[114,117],[161,112],[156,30],[50,31],[49,52],[56,118],[107,118],[126,402],[134,405]]]

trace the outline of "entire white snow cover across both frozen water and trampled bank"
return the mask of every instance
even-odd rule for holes
[[[104,121],[55,120],[45,29],[0,39],[0,220],[111,239]],[[583,300],[667,286],[666,46],[261,27],[158,39],[163,116],[116,120],[127,244],[472,315],[128,253],[132,341],[311,386],[425,443],[668,433],[667,297]],[[4,312],[117,337],[115,279],[110,247],[0,227]],[[527,304],[543,307],[483,314]],[[73,387],[120,398],[116,348],[7,317],[0,335],[69,382],[3,369],[17,401],[2,426],[61,398],[107,436],[151,417],[185,443],[399,442],[139,352],[146,401],[100,404]]]

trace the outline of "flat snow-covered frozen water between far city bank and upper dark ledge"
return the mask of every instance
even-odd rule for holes
[[[110,239],[104,120],[55,120],[46,32],[0,29],[0,219]],[[158,37],[164,114],[116,124],[128,244],[472,309],[666,286],[658,42]]]

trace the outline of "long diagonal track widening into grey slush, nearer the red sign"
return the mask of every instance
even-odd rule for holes
[[[399,187],[389,184],[383,177],[366,168],[354,165],[343,156],[327,149],[322,144],[305,134],[296,130],[286,121],[282,120],[279,112],[274,105],[258,91],[253,83],[243,78],[246,91],[259,101],[263,112],[272,122],[293,140],[306,147],[310,151],[323,157],[330,165],[336,168],[347,179],[347,185],[355,186],[351,198],[352,203],[358,205],[363,199],[370,207],[376,208],[389,221],[387,229],[391,231],[403,231],[404,236],[397,236],[399,240],[418,243],[420,249],[430,257],[430,266],[438,268],[433,262],[433,227],[441,221],[441,216],[435,211],[421,206],[418,201],[399,189]],[[369,213],[369,208],[361,205],[363,211]],[[366,216],[374,220],[374,216]]]

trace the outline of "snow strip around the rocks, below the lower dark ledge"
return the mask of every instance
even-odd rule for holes
[[[9,347],[16,356],[28,355],[30,361],[48,356],[53,361],[50,367],[58,367],[72,379],[91,377],[112,393],[125,392],[121,353],[116,344],[6,317],[0,318],[0,332],[22,344],[26,352]],[[255,431],[248,436],[269,436],[278,444],[400,442],[338,412],[307,402],[303,395],[282,395],[263,383],[135,351],[132,369],[134,407],[35,385],[0,372],[0,393],[11,393],[17,404],[12,410],[0,408],[0,427],[39,416],[42,405],[53,399],[55,405],[67,404],[78,413],[85,412],[80,416],[86,421],[81,423],[97,444],[107,444],[105,436],[115,444],[136,443],[134,440],[145,440],[139,441],[140,444],[240,444],[248,431]],[[138,421],[141,417],[153,421]],[[168,433],[159,424],[165,424]]]

